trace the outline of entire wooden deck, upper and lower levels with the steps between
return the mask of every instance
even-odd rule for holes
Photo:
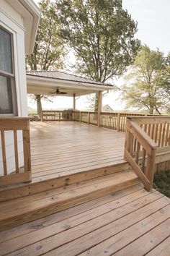
[[[0,256],[169,256],[170,199],[143,189],[124,140],[79,122],[32,122],[32,182],[0,190]]]

